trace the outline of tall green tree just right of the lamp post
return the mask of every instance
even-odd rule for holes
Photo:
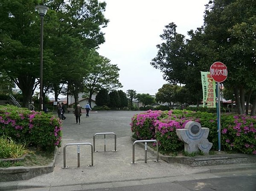
[[[100,29],[107,26],[108,20],[103,15],[106,3],[99,3],[98,0],[50,0],[48,6],[56,11],[55,17],[61,21],[55,24],[53,36],[50,34],[51,38],[47,39],[47,45],[53,52],[53,67],[61,68],[55,70],[49,80],[56,100],[63,83],[73,83],[73,78],[80,80],[81,75],[88,75],[87,55],[91,48],[105,42]],[[79,75],[74,76],[74,73]]]

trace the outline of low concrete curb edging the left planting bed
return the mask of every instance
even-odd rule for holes
[[[0,182],[29,180],[33,177],[53,172],[57,153],[58,148],[55,148],[54,159],[49,165],[46,166],[17,166],[9,168],[0,168]]]

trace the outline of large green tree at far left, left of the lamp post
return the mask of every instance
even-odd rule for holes
[[[0,69],[16,83],[28,107],[39,77],[40,19],[34,0],[2,0],[0,3]]]

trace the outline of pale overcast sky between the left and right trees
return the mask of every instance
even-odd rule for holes
[[[103,0],[101,0],[103,1]],[[160,70],[150,65],[156,57],[159,37],[171,22],[177,32],[203,25],[204,9],[209,0],[105,0],[105,17],[110,20],[102,31],[105,43],[99,54],[117,64],[119,81],[124,92],[133,89],[137,93],[154,95],[167,83]]]

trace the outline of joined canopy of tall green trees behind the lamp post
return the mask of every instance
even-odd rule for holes
[[[1,0],[0,69],[23,93],[23,105],[39,82],[40,16],[35,6],[40,0]],[[102,27],[107,26],[103,12],[106,3],[98,0],[48,0],[44,17],[43,84],[52,88],[55,99],[60,84],[74,86],[89,68],[86,56],[91,48],[104,43]],[[76,78],[77,79],[74,79]]]

